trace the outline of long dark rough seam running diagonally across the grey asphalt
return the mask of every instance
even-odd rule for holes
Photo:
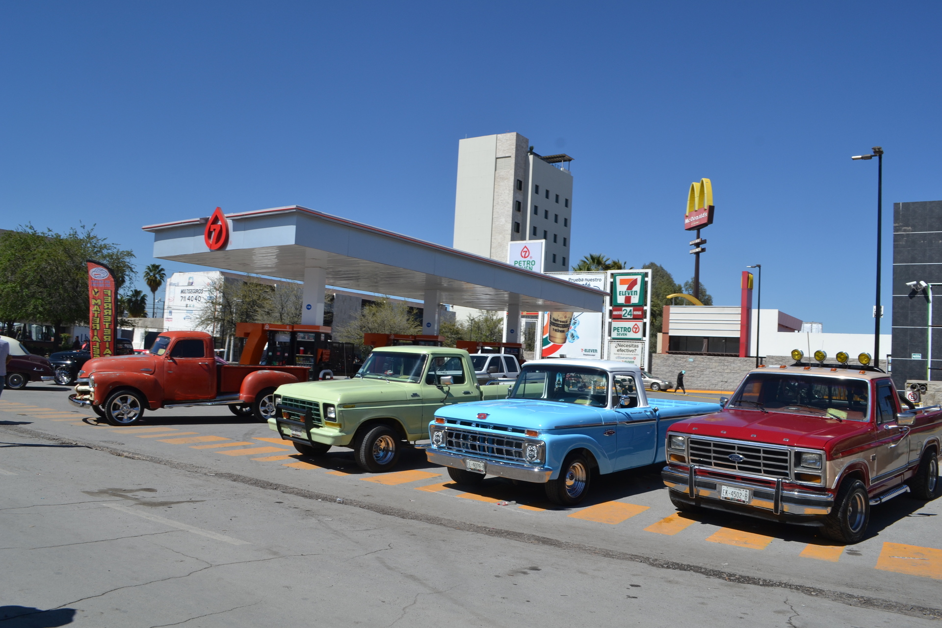
[[[55,443],[70,443],[81,445],[87,447],[88,449],[101,451],[112,456],[118,456],[121,458],[142,460],[145,462],[152,462],[154,464],[160,464],[162,466],[170,467],[171,469],[176,469],[178,471],[184,471],[187,473],[193,473],[198,475],[212,475],[219,479],[225,479],[230,482],[236,482],[239,484],[245,484],[252,486],[258,489],[263,489],[267,491],[278,491],[289,495],[295,495],[304,499],[309,499],[312,501],[324,501],[326,503],[334,504],[337,507],[355,507],[368,510],[370,512],[375,512],[382,515],[388,515],[391,517],[397,517],[398,519],[406,521],[417,521],[422,523],[429,523],[430,525],[438,525],[442,527],[451,528],[453,530],[460,530],[463,532],[470,532],[474,534],[480,534],[488,537],[495,537],[497,539],[507,539],[515,540],[522,543],[536,543],[544,545],[546,547],[554,547],[560,550],[577,552],[579,554],[586,554],[589,556],[596,556],[602,558],[609,558],[612,560],[624,560],[628,562],[641,563],[643,565],[648,565],[650,567],[656,567],[658,569],[671,570],[676,572],[690,572],[690,573],[699,573],[700,575],[707,576],[708,578],[716,578],[719,580],[724,580],[726,582],[731,582],[739,585],[753,585],[755,587],[764,587],[764,588],[783,588],[785,590],[795,591],[796,593],[803,593],[804,595],[815,596],[819,599],[830,600],[832,602],[837,602],[839,604],[847,604],[849,606],[857,606],[860,608],[870,608],[875,610],[882,610],[890,613],[897,613],[900,615],[907,615],[910,617],[922,617],[930,618],[933,620],[942,620],[942,608],[934,608],[932,606],[921,606],[916,604],[906,604],[904,602],[897,602],[895,600],[886,600],[882,598],[871,597],[867,595],[859,595],[855,593],[847,593],[845,591],[839,591],[835,589],[820,588],[820,587],[810,587],[806,585],[796,584],[794,582],[789,582],[787,580],[772,580],[771,578],[764,578],[759,576],[744,575],[737,572],[726,572],[719,569],[714,569],[707,567],[705,565],[696,565],[692,563],[682,563],[674,560],[667,560],[664,558],[658,558],[655,556],[643,556],[637,554],[629,554],[627,552],[622,552],[620,550],[610,550],[603,547],[597,547],[593,545],[587,545],[585,543],[577,543],[572,541],[553,539],[551,537],[543,537],[540,535],[529,534],[527,532],[517,532],[515,530],[505,530],[502,528],[490,527],[487,525],[480,525],[479,523],[467,523],[463,521],[458,521],[454,519],[447,519],[446,517],[438,517],[435,515],[428,515],[421,512],[415,512],[412,510],[406,510],[405,508],[392,507],[392,506],[382,506],[379,504],[373,504],[371,502],[365,502],[358,499],[349,499],[343,498],[343,503],[335,503],[334,500],[337,498],[337,495],[332,495],[328,493],[322,493],[317,491],[309,491],[307,489],[300,489],[297,487],[289,486],[286,484],[279,484],[276,482],[270,482],[268,480],[259,479],[257,477],[251,477],[248,475],[239,475],[229,472],[217,471],[207,467],[203,467],[198,464],[193,464],[190,462],[180,462],[172,459],[163,459],[155,456],[149,456],[146,454],[138,454],[135,452],[122,451],[121,449],[116,449],[114,447],[108,447],[99,443],[84,443],[81,441],[76,441],[74,439],[67,439],[64,437],[56,436],[46,432],[41,432],[36,429],[29,429],[27,427],[19,426],[0,426],[3,429],[7,429],[10,432],[19,434],[27,438],[36,438],[46,441],[52,441]]]

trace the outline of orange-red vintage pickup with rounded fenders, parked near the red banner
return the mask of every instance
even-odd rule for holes
[[[223,363],[208,333],[165,331],[148,353],[85,362],[69,401],[113,426],[135,425],[145,410],[182,406],[228,406],[238,416],[268,421],[275,389],[307,376],[306,366]]]

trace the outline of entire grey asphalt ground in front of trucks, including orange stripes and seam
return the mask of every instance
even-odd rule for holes
[[[580,507],[499,478],[461,491],[421,450],[364,474],[225,409],[98,425],[66,389],[0,396],[0,627],[936,625],[942,500],[870,536],[679,517],[657,468]],[[692,395],[691,395],[692,396]]]

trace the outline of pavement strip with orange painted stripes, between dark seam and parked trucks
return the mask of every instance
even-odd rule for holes
[[[316,491],[419,522],[447,520],[493,529],[495,534],[526,533],[643,560],[673,561],[700,572],[716,570],[916,606],[939,605],[942,541],[934,517],[942,510],[942,500],[926,504],[900,497],[873,507],[869,538],[840,547],[808,528],[725,514],[679,515],[667,499],[657,467],[602,476],[580,507],[558,508],[545,501],[541,487],[500,478],[464,491],[421,450],[408,450],[397,472],[382,475],[362,473],[348,449],[306,458],[266,425],[225,409],[150,412],[141,427],[101,425],[93,413],[70,410],[65,394],[53,388],[5,391],[0,424],[192,465],[207,473]]]

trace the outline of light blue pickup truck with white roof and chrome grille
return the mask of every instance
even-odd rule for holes
[[[435,411],[427,454],[458,484],[485,475],[538,482],[551,501],[572,506],[593,473],[663,462],[668,427],[720,410],[682,399],[649,403],[641,369],[625,362],[539,360],[524,364],[506,399]]]

